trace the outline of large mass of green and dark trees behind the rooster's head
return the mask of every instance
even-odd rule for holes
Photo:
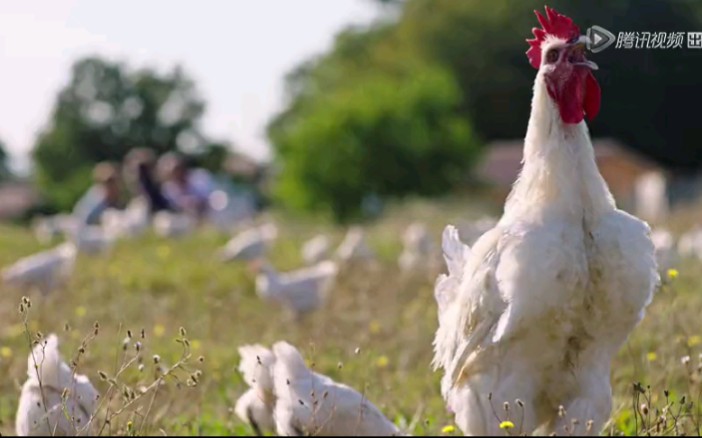
[[[286,79],[287,107],[268,129],[285,204],[328,207],[343,218],[369,190],[439,193],[461,180],[460,169],[470,169],[479,145],[525,133],[535,71],[524,40],[543,2],[377,3],[386,19],[341,32],[328,53]],[[594,24],[615,34],[702,29],[697,1],[549,5],[583,33]],[[592,58],[602,67],[603,89],[593,134],[618,138],[669,168],[699,168],[702,125],[693,108],[702,97],[702,56],[612,47]]]

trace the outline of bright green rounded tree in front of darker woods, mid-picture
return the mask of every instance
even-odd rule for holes
[[[388,30],[347,30],[329,55],[288,76],[290,106],[268,131],[280,170],[274,191],[286,205],[343,221],[359,216],[368,195],[436,195],[465,176],[477,144],[457,116],[458,83],[409,54],[397,62]]]

